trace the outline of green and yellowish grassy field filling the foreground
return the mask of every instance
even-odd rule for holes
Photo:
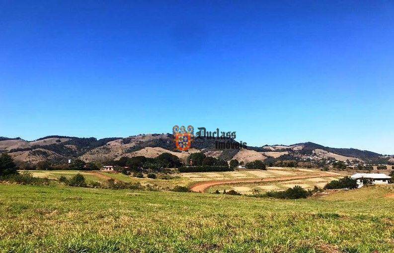
[[[394,252],[393,187],[301,200],[0,185],[0,252]]]

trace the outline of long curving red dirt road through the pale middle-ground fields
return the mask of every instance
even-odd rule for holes
[[[218,180],[218,181],[205,181],[191,185],[189,189],[194,192],[204,192],[208,188],[217,185],[236,184],[236,183],[258,183],[258,182],[280,182],[307,178],[324,178],[332,177],[327,174],[313,174],[308,176],[283,176],[283,177],[272,177],[272,178],[259,178],[259,179],[234,179],[234,180]]]

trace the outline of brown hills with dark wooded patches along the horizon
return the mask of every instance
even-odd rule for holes
[[[121,157],[145,156],[155,158],[162,153],[171,153],[186,161],[190,153],[204,152],[207,156],[226,161],[237,159],[244,163],[254,160],[299,160],[299,161],[354,161],[369,164],[394,164],[394,157],[354,148],[331,148],[313,142],[293,145],[246,146],[233,149],[216,149],[214,138],[197,138],[187,152],[176,149],[172,134],[140,134],[135,136],[109,137],[103,139],[51,135],[34,141],[21,138],[0,137],[0,152],[7,152],[16,162],[35,164],[48,161],[53,164],[66,163],[79,158],[85,162],[103,162]],[[236,142],[231,138],[219,141]]]

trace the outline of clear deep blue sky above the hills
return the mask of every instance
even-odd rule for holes
[[[192,125],[394,154],[393,1],[70,2],[0,0],[0,135]]]

